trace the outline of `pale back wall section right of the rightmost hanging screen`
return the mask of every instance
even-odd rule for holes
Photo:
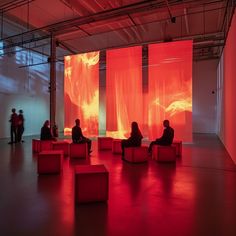
[[[216,133],[218,60],[193,63],[193,132]]]

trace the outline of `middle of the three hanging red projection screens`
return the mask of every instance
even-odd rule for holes
[[[109,50],[106,62],[106,134],[128,137],[132,121],[143,123],[142,47]]]

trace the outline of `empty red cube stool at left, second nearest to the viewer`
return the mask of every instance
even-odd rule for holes
[[[38,154],[38,174],[58,174],[62,170],[62,151],[42,151]]]

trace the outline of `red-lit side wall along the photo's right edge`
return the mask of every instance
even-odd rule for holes
[[[236,13],[227,35],[226,45],[218,66],[217,134],[236,163]]]

